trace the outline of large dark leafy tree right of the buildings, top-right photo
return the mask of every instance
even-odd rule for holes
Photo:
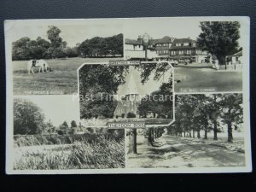
[[[220,65],[226,65],[225,58],[238,47],[240,23],[237,21],[203,21],[197,38],[200,49],[215,55]]]

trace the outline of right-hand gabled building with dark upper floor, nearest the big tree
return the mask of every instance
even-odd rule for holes
[[[170,57],[177,61],[206,62],[209,55],[196,46],[190,38],[175,38],[170,48]]]

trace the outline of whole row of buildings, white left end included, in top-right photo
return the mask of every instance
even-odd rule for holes
[[[207,62],[210,55],[196,46],[195,40],[190,38],[172,38],[165,36],[160,39],[149,38],[148,46],[143,46],[143,38],[137,40],[125,39],[125,59],[144,59],[145,49],[149,60],[168,56],[176,61]]]

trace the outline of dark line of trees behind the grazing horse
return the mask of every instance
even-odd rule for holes
[[[24,37],[13,42],[12,59],[54,59],[65,57],[102,57],[123,56],[123,34],[108,38],[90,38],[74,47],[68,47],[61,38],[61,30],[57,26],[49,26],[46,32],[48,40],[38,37],[35,40]]]

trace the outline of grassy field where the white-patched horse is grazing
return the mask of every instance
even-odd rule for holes
[[[106,62],[120,58],[67,58],[46,60],[48,73],[27,74],[27,61],[13,61],[15,95],[59,95],[78,92],[77,69],[84,62]]]

